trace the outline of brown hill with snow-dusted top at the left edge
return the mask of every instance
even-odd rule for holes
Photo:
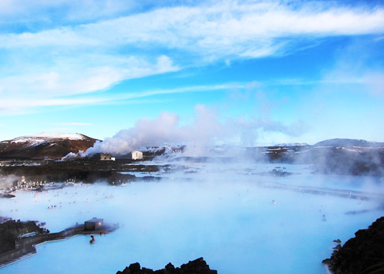
[[[93,147],[97,140],[77,133],[40,133],[0,142],[0,158],[62,158]]]

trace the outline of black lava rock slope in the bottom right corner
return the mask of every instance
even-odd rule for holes
[[[355,233],[331,258],[323,260],[333,274],[384,273],[384,216]]]

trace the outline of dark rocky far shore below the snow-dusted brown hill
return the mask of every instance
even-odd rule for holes
[[[132,160],[19,161],[0,166],[0,190],[1,188],[8,188],[11,191],[25,188],[43,190],[51,187],[51,184],[68,185],[80,182],[128,184],[156,179],[152,173],[158,172],[161,168],[164,167],[141,164]],[[136,173],[146,173],[147,176],[137,177]],[[12,198],[6,193],[10,194],[10,191],[5,193],[0,191],[0,198]]]

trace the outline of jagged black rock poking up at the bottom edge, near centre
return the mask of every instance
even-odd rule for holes
[[[198,258],[193,261],[189,261],[187,264],[182,264],[179,267],[173,266],[169,263],[165,266],[165,269],[159,269],[153,271],[152,269],[146,269],[145,267],[141,268],[139,262],[130,264],[130,266],[125,267],[123,271],[117,271],[116,274],[217,274],[217,271],[209,269],[208,264],[204,261],[203,258]]]

